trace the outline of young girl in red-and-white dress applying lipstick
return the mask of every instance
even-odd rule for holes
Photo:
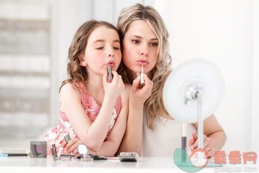
[[[92,154],[114,156],[126,130],[131,88],[115,72],[121,58],[120,38],[113,25],[90,20],[77,30],[68,52],[68,79],[60,87],[59,124],[44,138],[48,155],[55,144],[58,154],[80,156],[80,142]],[[109,66],[111,82],[107,81]],[[67,134],[72,138],[69,147],[64,140]]]

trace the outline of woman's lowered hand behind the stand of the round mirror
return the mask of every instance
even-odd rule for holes
[[[193,138],[189,139],[189,147],[191,149],[191,152],[195,150],[198,147],[198,137],[195,132],[193,132]],[[210,138],[208,138],[206,135],[203,135],[203,148],[208,152],[208,157],[211,158],[215,154],[215,148]]]

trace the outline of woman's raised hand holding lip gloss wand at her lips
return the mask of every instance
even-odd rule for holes
[[[140,84],[140,74],[137,73],[137,78],[133,80],[132,87],[130,91],[130,103],[134,105],[143,106],[145,101],[150,97],[151,90],[153,88],[153,82],[148,78],[147,75],[144,75],[145,85],[143,88],[139,88]]]

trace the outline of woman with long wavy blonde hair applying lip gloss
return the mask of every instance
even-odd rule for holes
[[[132,84],[126,133],[117,154],[137,152],[142,156],[173,156],[181,147],[181,123],[169,116],[162,102],[162,86],[170,73],[168,31],[158,12],[136,4],[122,10],[117,30],[122,39],[123,62],[119,74]],[[143,65],[145,85],[139,88],[139,73]],[[196,131],[197,123],[187,124],[187,137]],[[214,114],[204,120],[204,149],[209,157],[226,142],[226,134]],[[198,145],[189,139],[187,153]]]

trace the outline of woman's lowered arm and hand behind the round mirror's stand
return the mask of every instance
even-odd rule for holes
[[[215,151],[219,151],[224,146],[227,136],[214,114],[205,119],[203,123],[203,148],[207,150],[209,157],[213,157]],[[197,123],[194,123],[194,125],[198,128]],[[198,146],[198,140],[190,138],[189,146],[193,152],[193,150]]]

